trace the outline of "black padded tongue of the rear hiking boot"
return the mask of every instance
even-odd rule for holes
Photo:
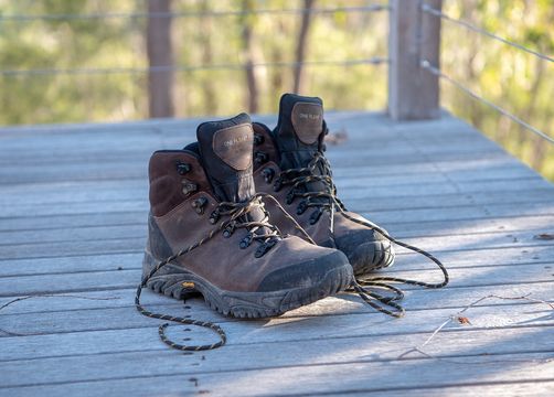
[[[285,94],[274,130],[284,170],[306,167],[323,137],[323,103],[317,97]]]

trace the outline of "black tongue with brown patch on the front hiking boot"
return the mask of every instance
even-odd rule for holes
[[[255,193],[252,176],[254,131],[246,114],[203,122],[196,129],[200,155],[221,201],[242,202]]]

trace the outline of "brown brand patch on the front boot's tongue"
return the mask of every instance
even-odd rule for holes
[[[224,128],[213,136],[214,153],[236,171],[252,165],[253,144],[254,131],[249,124]]]

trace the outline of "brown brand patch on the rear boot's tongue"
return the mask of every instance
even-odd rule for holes
[[[316,143],[323,130],[323,107],[318,104],[297,103],[290,117],[296,136],[306,144]]]

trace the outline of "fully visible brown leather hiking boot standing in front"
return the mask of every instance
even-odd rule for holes
[[[150,159],[142,285],[174,298],[200,292],[238,318],[277,315],[345,289],[352,269],[341,251],[283,236],[268,219],[254,190],[249,117],[204,122],[196,136]]]

